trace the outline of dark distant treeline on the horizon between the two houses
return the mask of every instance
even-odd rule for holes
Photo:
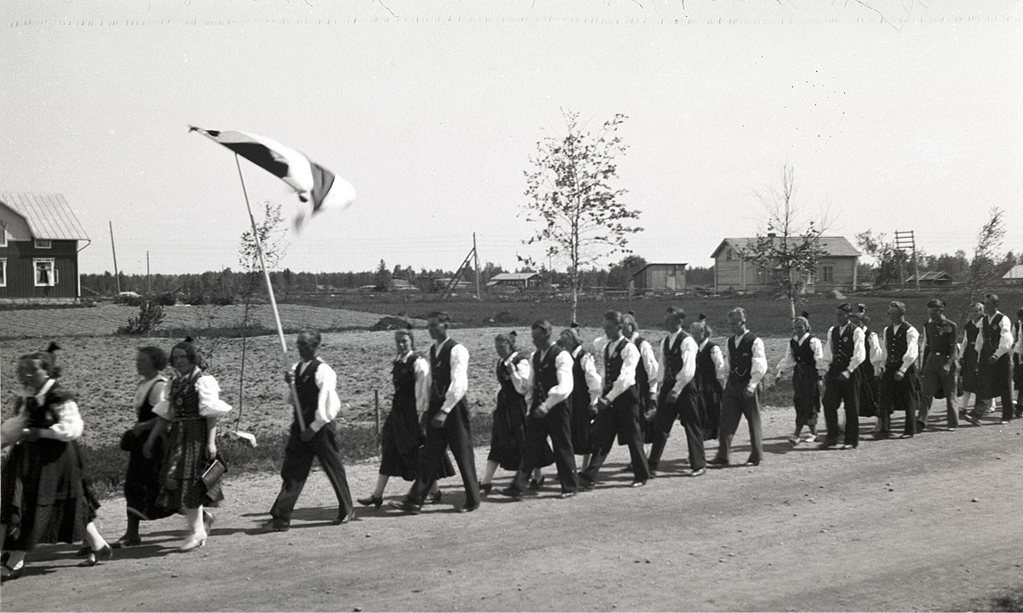
[[[582,274],[583,289],[611,288],[625,290],[628,288],[632,274],[644,266],[647,261],[637,256],[629,256],[621,262],[606,269],[591,268]],[[494,275],[502,272],[534,272],[527,268],[505,270],[492,262],[480,269],[480,284]],[[550,271],[543,267],[535,272],[540,273],[546,286],[569,286],[569,275],[565,271]],[[690,287],[708,287],[714,283],[714,268],[690,268],[686,270],[686,283]],[[443,287],[440,279],[450,279],[454,270],[413,269],[411,266],[387,266],[382,260],[375,270],[362,272],[295,272],[285,268],[270,273],[275,293],[311,294],[315,292],[331,292],[355,290],[359,288],[373,289],[377,292],[396,291],[413,287],[421,292],[435,292]],[[471,284],[476,282],[476,271],[463,270],[459,280]],[[120,281],[120,282],[119,282]],[[225,268],[219,272],[209,271],[202,274],[121,274],[116,278],[109,271],[102,274],[83,274],[83,298],[115,296],[120,292],[136,292],[142,295],[174,295],[181,302],[188,304],[230,304],[238,297],[244,296],[250,288],[257,296],[262,295],[263,277],[261,273],[247,273]]]

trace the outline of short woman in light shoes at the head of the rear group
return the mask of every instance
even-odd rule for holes
[[[803,314],[792,320],[793,336],[785,357],[777,364],[774,376],[775,383],[782,381],[782,375],[792,370],[792,402],[796,407],[796,432],[789,437],[789,442],[798,445],[804,442],[803,427],[809,430],[805,442],[817,440],[817,413],[820,411],[820,376],[817,374],[817,362],[824,356],[820,341],[810,335],[810,314]]]

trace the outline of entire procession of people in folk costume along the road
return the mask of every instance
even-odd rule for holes
[[[791,442],[817,442],[821,406],[827,424],[821,448],[837,446],[840,439],[842,448],[857,447],[860,417],[877,418],[876,437],[890,436],[896,411],[905,413],[901,437],[911,437],[927,427],[934,398],[945,398],[948,430],[958,427],[961,414],[978,424],[993,398],[1002,401],[1002,423],[1019,418],[1012,395],[1014,377],[1017,389],[1023,388],[1023,309],[1014,326],[997,307],[993,294],[974,305],[962,340],[940,300],[928,304],[922,339],[897,301],[890,303],[889,325],[880,336],[870,330],[863,305],[838,305],[836,323],[822,341],[811,335],[806,313],[796,317],[786,356],[775,368],[775,381],[792,370],[796,424]],[[593,488],[616,441],[628,446],[631,485],[639,487],[657,476],[676,420],[686,438],[685,476],[701,477],[708,466],[731,464],[732,438],[744,417],[751,450],[743,466],[759,466],[760,389],[769,369],[764,344],[748,330],[743,308],[731,309],[727,318],[731,336],[723,350],[710,341],[713,331],[703,315],[686,325],[685,312],[674,307],[664,314],[666,336],[654,344],[638,335],[634,315],[618,311],[605,314],[605,334],[592,342],[592,352],[583,347],[576,325],[555,336],[549,321],[535,321],[531,351],[520,350],[514,332],[497,335],[499,391],[481,482],[465,400],[469,351],[449,336],[450,316],[431,313],[427,330],[433,344],[427,355],[415,351],[411,331],[395,333],[394,397],[382,432],[379,477],[372,493],[355,501],[380,509],[388,481],[400,477],[411,487],[390,506],[417,514],[440,502],[438,480],[454,476],[455,465],[465,490],[458,508],[462,513],[479,509],[499,468],[515,473],[499,492],[522,499],[543,487],[542,469],[553,464],[560,497],[571,498]],[[290,529],[313,458],[338,499],[332,523],[348,523],[355,515],[335,426],[341,409],[337,374],[317,357],[320,342],[318,332],[302,331],[300,360],[284,373],[294,420],[280,492],[261,527],[265,532]],[[121,440],[130,454],[127,531],[112,543],[93,522],[99,503],[77,442],[84,426],[74,396],[59,385],[54,349],[51,345],[18,359],[25,389],[14,417],[2,427],[3,446],[11,447],[0,501],[3,580],[21,574],[26,555],[38,543],[82,541],[81,565],[95,566],[109,560],[115,549],[141,544],[141,521],[174,514],[183,515],[187,526],[179,550],[204,546],[215,520],[209,508],[223,499],[220,473],[210,477],[219,462],[217,421],[231,407],[220,399],[217,381],[204,369],[190,339],[176,344],[170,356],[157,347],[138,351],[137,419]],[[168,363],[170,379],[163,374]],[[976,404],[967,412],[971,397]],[[708,461],[704,443],[713,439],[717,452]]]

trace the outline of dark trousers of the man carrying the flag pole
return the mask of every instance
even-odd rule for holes
[[[306,442],[299,437],[299,426],[293,422],[287,444],[284,446],[284,464],[280,468],[283,483],[277,499],[270,508],[270,516],[275,520],[284,523],[292,521],[292,512],[295,511],[295,503],[309,478],[314,457],[319,459],[320,467],[338,496],[339,515],[346,516],[352,512],[352,493],[348,489],[345,467],[341,464],[341,449],[338,447],[333,424],[323,426],[312,440]]]

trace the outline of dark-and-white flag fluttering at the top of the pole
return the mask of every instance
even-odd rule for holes
[[[299,200],[309,205],[299,208],[295,217],[296,229],[324,208],[346,209],[355,201],[355,188],[351,183],[316,164],[302,151],[276,140],[248,132],[204,130],[195,126],[189,126],[188,131],[198,132],[219,142],[295,189]]]

